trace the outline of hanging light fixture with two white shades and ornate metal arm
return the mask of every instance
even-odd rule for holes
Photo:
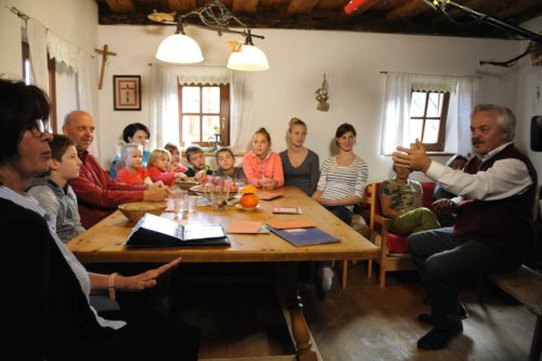
[[[188,22],[189,17],[198,17],[201,24]],[[196,9],[186,14],[178,14],[177,21],[172,14],[157,13],[149,15],[154,22],[177,25],[177,31],[164,39],[158,47],[156,57],[164,62],[192,64],[203,61],[202,50],[197,42],[184,34],[184,26],[197,26],[208,30],[215,30],[219,36],[222,33],[240,34],[245,39],[245,44],[232,50],[228,60],[228,68],[244,72],[259,72],[269,69],[269,62],[266,54],[253,43],[253,37],[263,39],[263,36],[254,35],[245,23],[233,15],[219,0],[211,0],[207,5]],[[242,30],[230,28],[230,21],[233,26],[243,27]]]

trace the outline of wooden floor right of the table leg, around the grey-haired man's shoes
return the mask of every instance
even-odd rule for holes
[[[416,320],[427,312],[425,292],[415,272],[395,272],[380,288],[364,265],[348,271],[348,287],[338,281],[324,300],[307,291],[305,317],[325,361],[360,360],[527,360],[535,318],[506,294],[487,285],[481,307],[475,285],[462,289],[469,318],[464,333],[448,349],[422,351],[416,340],[429,326]]]

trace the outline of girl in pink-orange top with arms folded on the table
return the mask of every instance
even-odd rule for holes
[[[253,150],[243,157],[243,171],[257,188],[271,191],[284,185],[281,157],[271,151],[271,136],[266,128],[254,133]]]

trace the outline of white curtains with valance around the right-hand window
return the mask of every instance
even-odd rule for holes
[[[397,146],[410,143],[410,105],[412,90],[449,91],[444,152],[467,155],[470,151],[470,111],[476,104],[478,79],[439,75],[388,73],[380,139],[380,154],[390,155]]]

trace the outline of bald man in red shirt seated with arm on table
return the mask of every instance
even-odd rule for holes
[[[89,154],[95,126],[94,119],[87,112],[68,113],[62,130],[75,142],[77,155],[82,162],[79,177],[69,183],[77,195],[81,223],[86,229],[113,212],[119,204],[166,198],[166,189],[162,185],[119,185],[109,178],[98,160]]]

